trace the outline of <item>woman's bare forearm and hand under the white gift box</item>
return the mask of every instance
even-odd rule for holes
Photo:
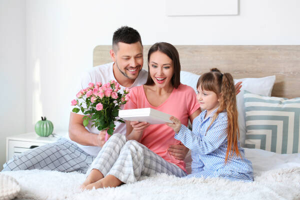
[[[148,122],[126,121],[126,140],[140,142],[143,130],[150,124]]]

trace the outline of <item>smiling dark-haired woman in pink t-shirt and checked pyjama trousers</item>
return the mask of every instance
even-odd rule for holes
[[[152,107],[187,125],[201,112],[193,89],[180,84],[180,62],[176,48],[166,42],[152,45],[148,52],[148,79],[133,87],[124,109]],[[113,134],[87,171],[82,189],[115,187],[132,183],[141,175],[167,173],[185,176],[185,163],[167,152],[179,143],[165,124],[126,121],[126,136]]]

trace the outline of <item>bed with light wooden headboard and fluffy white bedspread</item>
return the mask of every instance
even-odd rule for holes
[[[270,77],[270,83],[266,83],[263,79],[264,82],[258,87],[253,86],[254,83],[251,82],[255,81],[258,84],[258,79],[243,79],[245,87],[249,86],[249,90],[250,86],[261,90],[266,84],[271,84],[269,91],[264,91],[266,94],[261,97],[263,99],[270,98],[268,96],[271,95],[297,100],[295,97],[300,96],[299,45],[178,45],[176,47],[180,55],[181,70],[185,71],[182,81],[186,84],[193,78],[196,79],[198,74],[217,67],[221,71],[230,72],[236,81],[245,77]],[[144,68],[147,68],[148,48],[149,46],[144,46]],[[110,46],[106,45],[94,48],[94,66],[111,61],[109,49]],[[272,75],[275,75],[276,79],[272,78]],[[240,98],[243,100],[246,95],[254,95],[251,92],[255,93],[254,91],[250,91],[250,94],[247,91],[241,92]],[[285,99],[280,98],[279,101],[285,102]],[[249,109],[251,107],[253,106],[249,106]],[[245,106],[242,113],[246,127],[242,144],[248,146],[245,148],[245,156],[252,161],[253,182],[229,181],[221,178],[184,179],[156,174],[142,177],[140,181],[133,184],[81,192],[79,185],[84,180],[84,174],[78,172],[63,173],[35,169],[2,173],[18,181],[21,188],[17,194],[18,199],[300,199],[299,136],[293,132],[290,139],[290,133],[286,134],[286,137],[284,135],[280,137],[278,132],[277,141],[282,141],[282,145],[275,148],[273,148],[275,145],[273,141],[268,144],[263,139],[250,137],[250,125],[247,123],[250,124],[252,121],[247,112],[252,113],[253,110],[249,109]],[[294,118],[294,121],[296,120],[299,118]],[[263,138],[267,140],[267,134]],[[285,140],[286,147],[283,146]],[[264,145],[262,145],[263,141]],[[293,147],[290,148],[290,145]]]

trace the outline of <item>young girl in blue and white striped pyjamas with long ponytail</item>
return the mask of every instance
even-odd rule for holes
[[[171,116],[167,123],[175,139],[191,150],[191,174],[187,177],[224,177],[253,180],[251,161],[244,157],[238,137],[235,88],[230,73],[213,68],[197,82],[197,100],[202,112],[194,118],[192,131]]]

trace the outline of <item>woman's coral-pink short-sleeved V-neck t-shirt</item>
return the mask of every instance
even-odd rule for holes
[[[125,104],[124,109],[151,107],[175,116],[185,126],[188,123],[188,116],[200,107],[194,90],[185,84],[180,84],[178,88],[174,88],[169,97],[157,107],[148,102],[143,85],[132,87],[129,96],[130,99]],[[173,129],[165,124],[151,124],[144,129],[140,143],[166,161],[174,163],[186,171],[184,161],[175,159],[167,151],[169,145],[180,142],[174,138],[174,134]]]

